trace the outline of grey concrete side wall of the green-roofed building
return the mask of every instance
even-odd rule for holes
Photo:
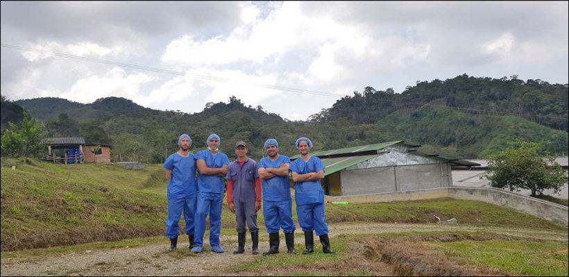
[[[452,185],[450,165],[405,165],[341,171],[341,195],[425,190]]]

